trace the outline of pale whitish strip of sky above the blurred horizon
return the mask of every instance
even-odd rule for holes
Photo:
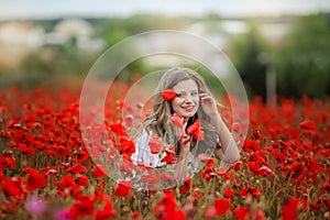
[[[0,19],[129,16],[134,13],[223,16],[330,12],[330,0],[0,0]]]

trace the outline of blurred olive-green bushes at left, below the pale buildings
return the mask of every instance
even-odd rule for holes
[[[78,50],[70,44],[42,47],[25,56],[20,66],[19,77],[12,78],[11,82],[34,87],[61,76],[85,76],[95,59],[95,54]]]

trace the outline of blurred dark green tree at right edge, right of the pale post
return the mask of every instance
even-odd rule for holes
[[[322,97],[330,94],[330,29],[321,14],[300,16],[275,51],[278,92]]]

